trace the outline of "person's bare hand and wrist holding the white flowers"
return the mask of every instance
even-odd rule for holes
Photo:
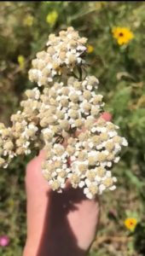
[[[109,113],[103,118],[110,120]],[[41,173],[44,151],[26,167],[27,239],[23,256],[84,256],[96,236],[100,203],[81,189],[52,191]]]

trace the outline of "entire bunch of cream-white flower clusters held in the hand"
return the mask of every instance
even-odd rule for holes
[[[29,72],[38,86],[26,90],[12,126],[0,125],[0,166],[32,148],[44,148],[42,172],[49,186],[62,191],[68,180],[92,199],[116,188],[111,169],[127,142],[119,137],[117,125],[102,119],[98,79],[82,76],[85,43],[73,27],[49,36],[46,51],[38,53]]]

